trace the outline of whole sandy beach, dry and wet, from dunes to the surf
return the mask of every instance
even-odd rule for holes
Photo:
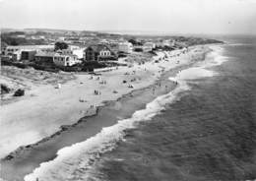
[[[46,85],[30,91],[29,93],[33,94],[32,97],[4,105],[1,109],[1,116],[6,115],[5,119],[3,119],[5,120],[4,126],[9,129],[8,132],[1,133],[2,138],[6,138],[1,141],[2,147],[6,148],[5,151],[1,152],[2,157],[11,151],[13,152],[3,159],[3,175],[7,174],[5,177],[12,180],[14,177],[9,175],[8,172],[11,173],[13,171],[10,170],[17,168],[18,172],[20,172],[20,175],[17,174],[18,178],[21,179],[21,175],[25,176],[25,174],[32,172],[32,169],[37,167],[40,162],[52,159],[52,156],[59,149],[86,140],[100,132],[102,127],[111,126],[118,119],[129,117],[136,109],[144,107],[154,97],[174,89],[175,85],[165,88],[165,85],[163,86],[162,84],[159,91],[151,88],[148,92],[150,97],[145,95],[146,97],[143,98],[143,101],[136,101],[139,102],[137,106],[134,108],[129,108],[128,106],[124,115],[119,115],[114,119],[112,117],[109,119],[110,121],[104,122],[104,119],[101,118],[97,119],[97,121],[85,123],[84,126],[77,123],[78,120],[80,120],[79,122],[87,122],[88,119],[94,119],[91,118],[94,114],[97,117],[101,109],[96,107],[102,107],[109,100],[117,100],[122,95],[127,95],[131,92],[136,94],[134,92],[136,90],[143,93],[145,91],[143,89],[149,89],[149,86],[154,84],[158,85],[158,81],[160,81],[160,77],[164,72],[168,72],[168,76],[163,76],[163,80],[167,80],[168,84],[173,84],[168,81],[169,74],[177,73],[180,68],[202,60],[204,54],[208,51],[209,48],[207,46],[195,46],[191,47],[185,54],[180,54],[179,56],[169,55],[171,57],[165,60],[162,59],[157,63],[155,60],[159,60],[160,57],[165,55],[164,53],[159,53],[155,60],[145,64],[134,64],[130,68],[118,67],[117,70],[101,72],[100,76],[76,75],[76,80],[61,85],[60,89],[55,89],[52,85]],[[124,80],[127,83],[123,83]],[[132,85],[133,88],[128,88],[129,85]],[[95,91],[100,91],[100,93],[96,94]],[[124,105],[115,104],[114,107],[118,111]],[[10,114],[11,112],[12,114]],[[90,115],[91,117],[80,119]],[[17,119],[18,117],[19,120]],[[30,125],[30,127],[27,125]],[[74,130],[72,130],[73,127],[69,130],[71,126],[68,125],[73,125],[75,127]],[[69,131],[66,132],[68,134],[65,136],[66,130]],[[76,133],[80,133],[78,134],[80,136],[74,136],[77,135]],[[23,139],[20,139],[21,134],[24,135]],[[63,140],[60,141],[58,139]],[[8,147],[6,147],[7,143]],[[60,144],[58,145],[57,143]],[[52,148],[50,147],[52,144],[58,146]],[[21,148],[18,149],[19,147]],[[46,150],[49,150],[49,152],[43,151],[43,148],[44,150],[47,148]],[[50,148],[52,148],[52,151],[50,151]],[[36,150],[39,150],[40,154]],[[31,161],[28,167],[24,166],[23,169],[18,169],[21,163],[26,165],[26,161]]]

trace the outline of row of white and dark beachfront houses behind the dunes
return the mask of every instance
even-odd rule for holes
[[[106,44],[94,44],[88,47],[70,45],[67,49],[54,50],[54,45],[23,45],[7,46],[2,54],[11,56],[15,61],[35,61],[36,63],[54,63],[57,66],[72,66],[83,61],[109,61],[117,60],[117,52]],[[144,52],[156,48],[156,43],[145,42],[141,46],[133,46],[132,43],[123,41],[118,43],[119,52],[131,53],[135,48],[141,48]]]

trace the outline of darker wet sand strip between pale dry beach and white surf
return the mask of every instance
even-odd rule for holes
[[[187,66],[189,64],[183,68]],[[105,106],[96,109],[96,115],[84,117],[72,126],[63,126],[52,136],[12,152],[2,160],[2,177],[10,181],[23,180],[26,174],[39,166],[39,163],[53,159],[58,150],[85,141],[100,132],[103,127],[114,125],[118,120],[130,117],[158,95],[174,89],[175,84],[167,78],[180,69],[180,67],[175,68],[165,73],[154,86],[132,91],[116,101],[104,102]]]

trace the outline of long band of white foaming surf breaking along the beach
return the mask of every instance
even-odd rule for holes
[[[145,109],[136,111],[131,118],[119,120],[117,124],[103,128],[96,136],[59,150],[56,158],[41,163],[31,174],[25,176],[25,181],[34,181],[36,178],[40,181],[87,180],[91,177],[92,163],[100,156],[100,153],[113,150],[116,143],[124,138],[125,130],[134,128],[137,122],[150,120],[160,114],[166,103],[171,103],[178,98],[180,92],[190,90],[187,81],[215,76],[213,71],[206,70],[206,68],[220,65],[224,61],[218,60],[220,52],[213,56],[215,56],[214,63],[189,68],[179,72],[176,77],[169,78],[170,81],[178,83],[174,91],[160,95],[148,103]]]

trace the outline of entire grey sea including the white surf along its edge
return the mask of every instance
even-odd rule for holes
[[[130,118],[63,148],[26,181],[256,179],[256,36],[218,36],[177,87]]]

